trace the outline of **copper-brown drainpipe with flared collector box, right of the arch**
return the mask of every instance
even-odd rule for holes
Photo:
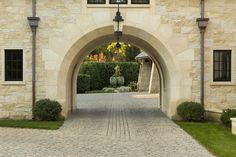
[[[201,13],[200,13],[201,17],[197,18],[197,22],[198,22],[198,27],[200,30],[200,35],[201,35],[201,49],[200,49],[200,62],[201,62],[201,89],[200,89],[200,101],[201,104],[204,106],[204,89],[205,89],[205,84],[204,84],[204,80],[205,80],[205,32],[206,32],[206,28],[207,28],[207,24],[209,21],[209,18],[205,18],[205,1],[201,0]]]

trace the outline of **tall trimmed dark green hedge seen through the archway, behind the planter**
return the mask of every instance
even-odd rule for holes
[[[138,80],[139,64],[137,62],[84,62],[79,74],[90,75],[90,90],[101,90],[110,86],[110,77],[119,65],[121,75],[125,78],[125,86]]]

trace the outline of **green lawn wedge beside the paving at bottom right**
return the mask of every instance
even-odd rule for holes
[[[176,122],[217,157],[236,157],[236,136],[218,123]]]

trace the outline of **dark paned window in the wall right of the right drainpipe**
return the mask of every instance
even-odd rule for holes
[[[215,50],[213,62],[213,81],[231,81],[231,50]]]

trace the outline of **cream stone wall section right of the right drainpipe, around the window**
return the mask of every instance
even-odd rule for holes
[[[221,111],[236,108],[236,1],[206,1],[206,16],[210,23],[206,32],[206,108]],[[213,82],[213,50],[232,50],[232,82]]]

